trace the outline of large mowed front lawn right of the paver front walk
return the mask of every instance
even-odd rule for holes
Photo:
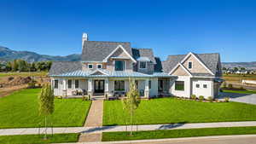
[[[256,106],[239,102],[161,98],[141,101],[133,118],[134,124],[252,121],[256,120]],[[104,125],[130,124],[129,119],[121,101],[104,101]]]

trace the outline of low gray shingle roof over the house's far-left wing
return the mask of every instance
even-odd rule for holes
[[[78,70],[82,70],[82,63],[80,61],[53,61],[49,69],[49,75],[59,75]]]

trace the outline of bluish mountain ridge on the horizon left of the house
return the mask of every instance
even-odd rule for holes
[[[0,61],[9,61],[15,59],[26,60],[27,62],[54,60],[54,61],[78,61],[80,60],[78,54],[67,56],[52,56],[52,55],[39,55],[30,51],[15,51],[9,48],[0,46]]]

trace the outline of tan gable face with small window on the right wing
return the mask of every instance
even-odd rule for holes
[[[192,62],[192,68],[189,69],[189,62]],[[189,57],[183,61],[183,66],[191,73],[210,73],[205,66],[201,64],[199,60],[195,58],[194,55],[189,55]]]

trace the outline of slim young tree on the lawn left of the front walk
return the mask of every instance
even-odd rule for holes
[[[39,115],[44,116],[44,128],[45,128],[44,139],[47,139],[47,116],[51,115],[55,111],[55,104],[54,104],[55,96],[53,93],[53,89],[51,89],[50,84],[44,84],[38,99],[39,99]]]

